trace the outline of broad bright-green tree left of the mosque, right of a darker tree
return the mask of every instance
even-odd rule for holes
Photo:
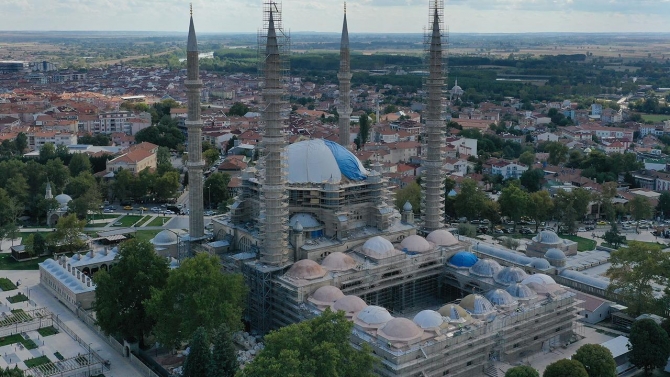
[[[216,256],[200,253],[170,271],[165,288],[153,288],[145,305],[156,321],[156,339],[175,347],[200,326],[207,333],[222,324],[240,329],[245,298],[242,276],[221,273]]]

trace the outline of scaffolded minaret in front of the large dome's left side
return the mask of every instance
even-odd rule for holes
[[[265,179],[262,186],[262,245],[261,263],[272,266],[283,266],[289,262],[288,236],[288,204],[286,203],[286,187],[284,186],[283,161],[284,124],[281,119],[282,66],[279,54],[279,43],[273,8],[269,4],[269,22],[267,42],[265,46],[265,85],[263,87],[263,150],[265,154]]]

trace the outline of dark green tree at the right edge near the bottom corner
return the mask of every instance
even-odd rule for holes
[[[643,368],[645,375],[662,368],[670,357],[670,340],[668,334],[653,319],[635,321],[630,329],[631,354],[629,361],[638,368]]]

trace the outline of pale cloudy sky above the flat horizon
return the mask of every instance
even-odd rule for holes
[[[432,0],[352,0],[350,33],[421,33]],[[261,0],[193,0],[196,31],[256,32]],[[452,33],[670,32],[670,0],[444,0]],[[187,0],[0,0],[0,30],[187,31]],[[339,32],[343,2],[284,0],[284,28]]]

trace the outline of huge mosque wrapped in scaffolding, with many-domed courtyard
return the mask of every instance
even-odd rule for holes
[[[420,223],[409,203],[394,209],[380,167],[366,169],[348,142],[286,145],[279,7],[269,2],[263,12],[264,158],[242,173],[229,213],[212,220],[216,242],[227,248],[225,268],[241,272],[249,287],[244,316],[252,331],[342,310],[354,323],[352,345],[368,344],[380,359],[376,373],[403,377],[483,376],[495,361],[572,341],[580,302],[554,278],[575,245],[543,232],[524,255],[464,242],[441,222],[442,1],[430,1]],[[345,88],[347,33],[345,12],[338,74]]]

